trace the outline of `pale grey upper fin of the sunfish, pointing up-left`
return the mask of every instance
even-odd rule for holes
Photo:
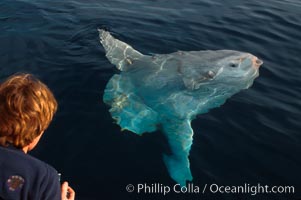
[[[98,32],[100,43],[106,51],[107,58],[120,71],[127,71],[135,60],[143,56],[130,45],[114,38],[108,31],[98,29]]]

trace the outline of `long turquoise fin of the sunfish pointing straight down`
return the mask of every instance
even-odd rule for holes
[[[162,128],[172,152],[171,155],[163,156],[164,163],[170,176],[185,186],[186,181],[192,181],[188,159],[193,136],[190,120],[166,120]]]

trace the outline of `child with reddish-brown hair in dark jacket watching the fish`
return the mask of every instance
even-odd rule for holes
[[[60,187],[53,167],[27,155],[56,109],[52,92],[30,74],[0,84],[0,199],[74,200],[75,192],[67,182]]]

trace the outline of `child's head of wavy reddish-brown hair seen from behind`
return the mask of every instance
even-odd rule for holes
[[[30,74],[0,84],[0,145],[29,145],[48,127],[57,102],[48,87]]]

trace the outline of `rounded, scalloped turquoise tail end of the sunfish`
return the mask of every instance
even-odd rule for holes
[[[104,91],[103,101],[111,106],[110,113],[122,129],[138,135],[157,129],[157,113],[146,106],[132,91],[127,76],[114,75]]]

